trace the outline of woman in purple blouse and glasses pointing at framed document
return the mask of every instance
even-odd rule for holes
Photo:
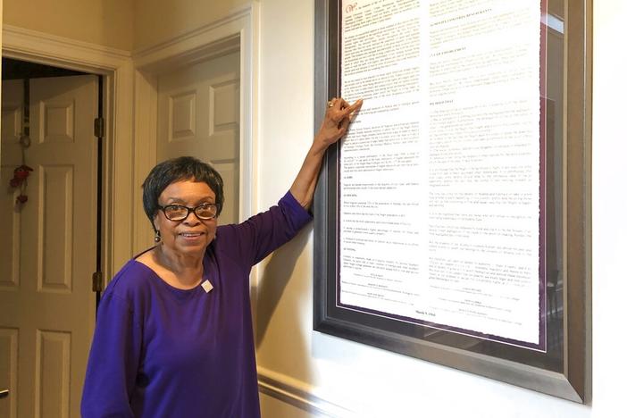
[[[327,147],[361,101],[334,99],[288,193],[238,225],[218,226],[217,171],[192,157],[144,183],[155,247],[104,291],[83,389],[83,417],[255,417],[259,397],[248,276],[307,222]]]

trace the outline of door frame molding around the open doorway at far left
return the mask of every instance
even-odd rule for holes
[[[134,141],[130,52],[3,25],[2,55],[104,76],[102,256],[104,277],[111,277],[132,255],[133,200],[129,179],[133,174]]]

